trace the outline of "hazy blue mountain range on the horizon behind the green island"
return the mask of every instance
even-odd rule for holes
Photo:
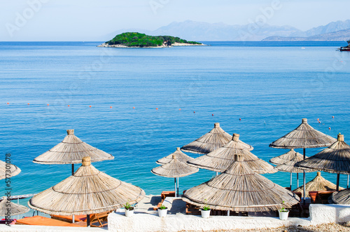
[[[123,32],[140,32],[148,35],[179,36],[190,41],[346,41],[350,39],[350,20],[330,22],[328,25],[301,31],[290,26],[226,25],[225,23],[172,22],[154,31],[145,29],[119,29],[104,36],[112,39]]]

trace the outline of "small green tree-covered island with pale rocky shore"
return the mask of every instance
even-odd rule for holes
[[[111,48],[167,48],[170,46],[205,46],[203,43],[186,41],[174,36],[148,36],[138,32],[125,32],[116,35],[97,47]]]

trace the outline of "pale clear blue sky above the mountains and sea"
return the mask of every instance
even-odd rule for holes
[[[267,13],[268,25],[307,30],[348,20],[349,0],[0,0],[0,41],[99,41],[118,29],[171,22],[246,25]]]

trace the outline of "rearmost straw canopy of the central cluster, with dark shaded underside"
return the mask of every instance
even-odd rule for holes
[[[231,139],[232,136],[220,127],[220,123],[214,123],[214,128],[210,132],[181,147],[181,150],[190,153],[207,154],[221,148],[221,146],[230,142]],[[249,151],[253,150],[253,146],[245,145]]]

